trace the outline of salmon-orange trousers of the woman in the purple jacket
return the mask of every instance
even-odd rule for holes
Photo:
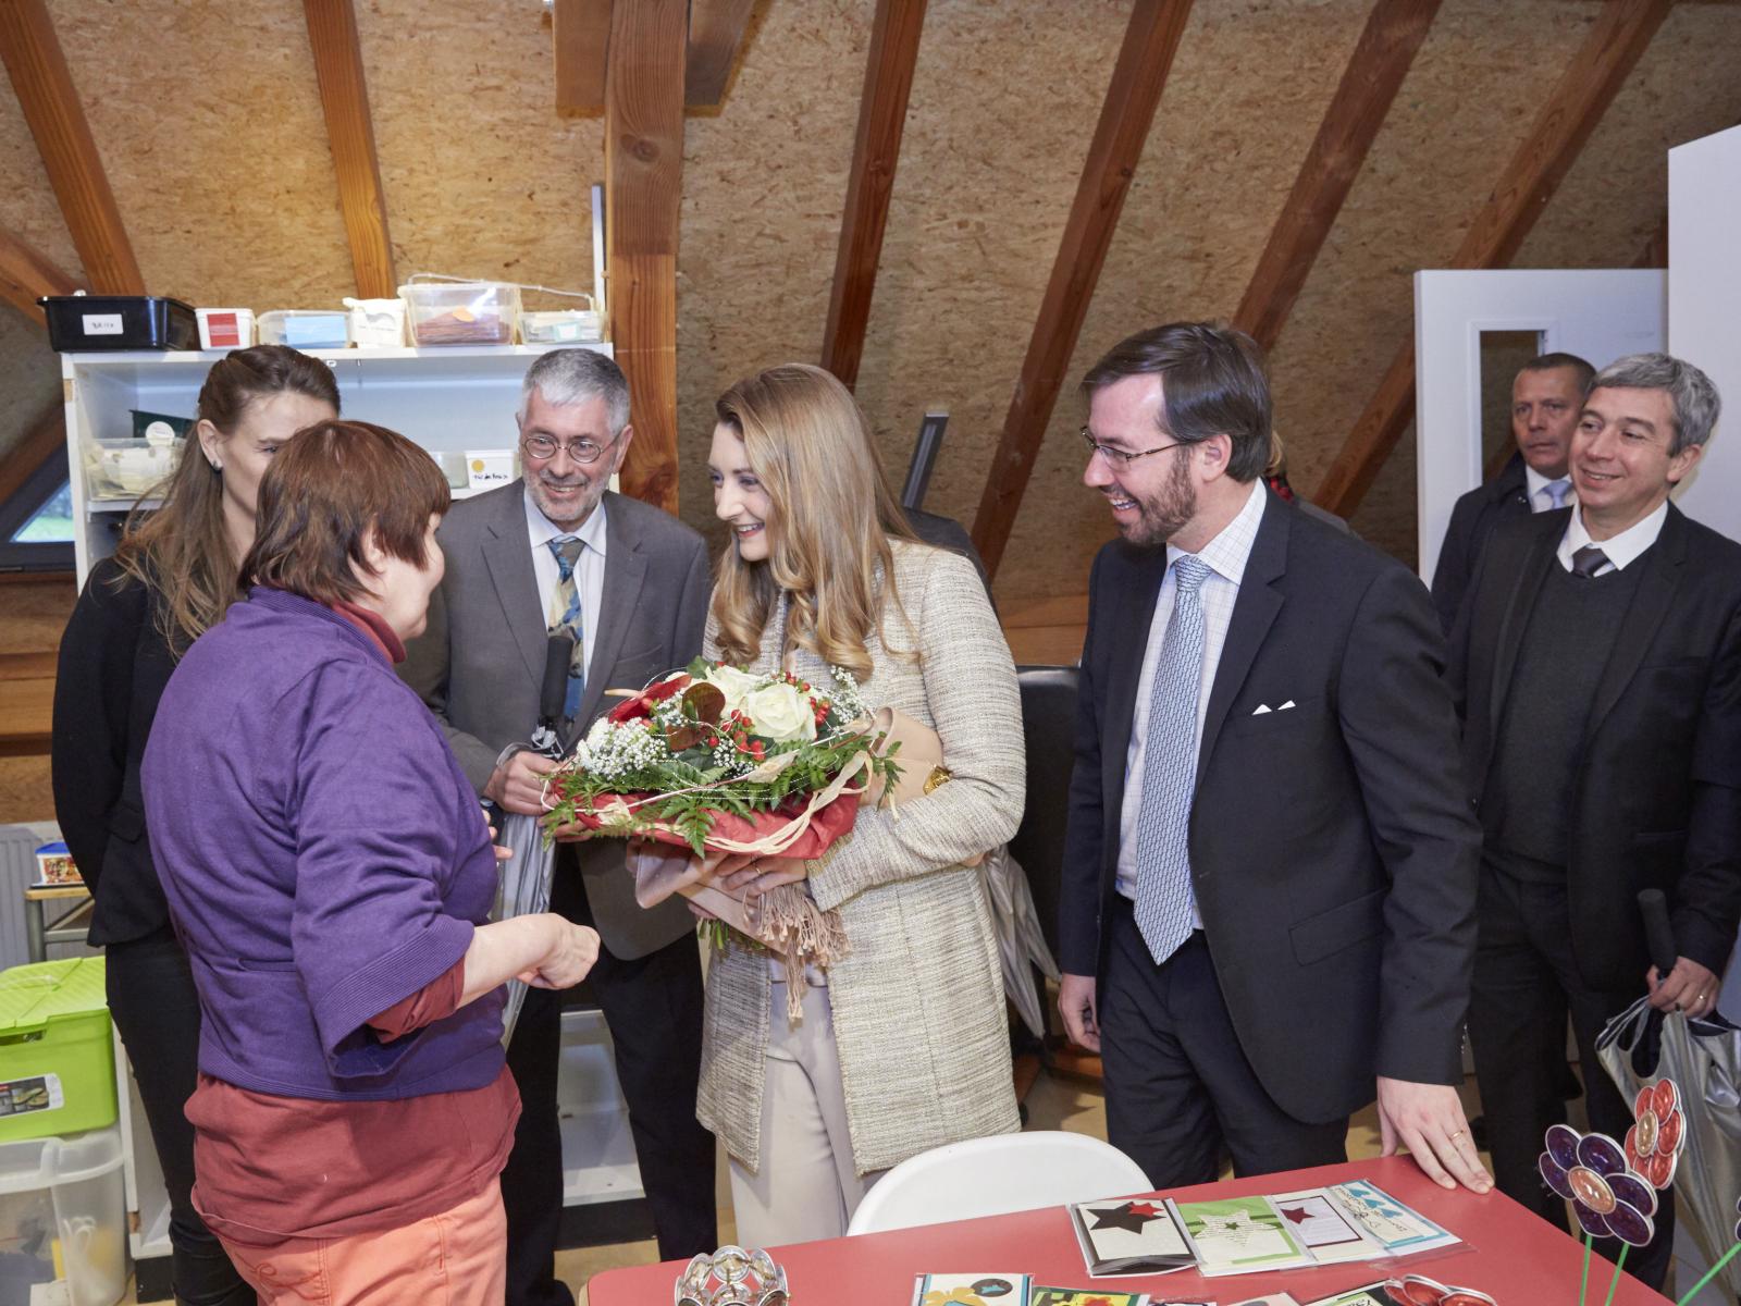
[[[439,1215],[350,1238],[225,1242],[263,1306],[501,1306],[507,1296],[501,1184]]]

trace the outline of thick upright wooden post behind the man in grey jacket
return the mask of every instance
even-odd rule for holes
[[[677,207],[688,0],[611,7],[604,204],[611,340],[629,376],[635,439],[623,493],[677,508]]]

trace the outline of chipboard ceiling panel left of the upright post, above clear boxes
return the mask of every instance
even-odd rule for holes
[[[541,7],[357,0],[357,30],[400,280],[590,291],[604,125],[555,115]]]

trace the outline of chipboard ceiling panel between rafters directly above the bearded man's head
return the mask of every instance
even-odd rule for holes
[[[1365,0],[1198,0],[1193,7],[1022,500],[998,576],[1005,594],[1085,589],[1093,550],[1112,526],[1079,484],[1076,381],[1132,331],[1233,313],[1367,12]],[[1111,63],[1088,78],[1095,113]],[[1072,185],[1086,139],[1085,131],[1074,146]],[[1024,343],[1031,324],[1032,305],[1022,315]],[[1008,395],[1006,381],[1003,404]]]

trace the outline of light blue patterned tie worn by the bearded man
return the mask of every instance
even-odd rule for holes
[[[1142,806],[1137,810],[1137,928],[1154,959],[1165,961],[1191,937],[1191,798],[1196,789],[1196,705],[1203,690],[1203,599],[1208,564],[1182,554],[1173,562],[1173,615],[1149,691],[1142,747]]]

